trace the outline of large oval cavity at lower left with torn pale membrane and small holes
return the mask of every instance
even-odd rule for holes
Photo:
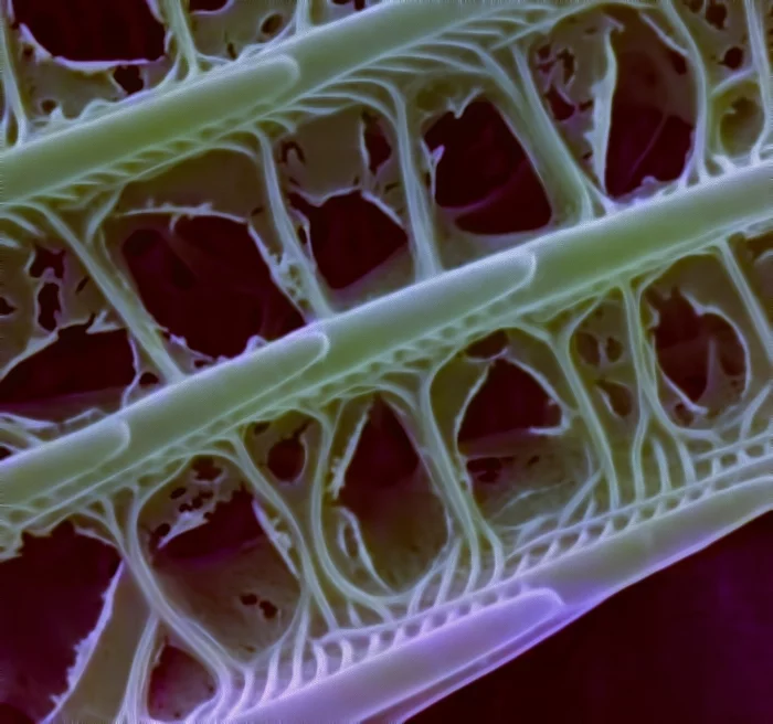
[[[292,551],[230,462],[199,458],[161,487],[140,531],[163,595],[234,657],[251,660],[286,630],[300,596]],[[269,535],[272,533],[272,535]]]

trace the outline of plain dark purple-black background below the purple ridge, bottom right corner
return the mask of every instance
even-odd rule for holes
[[[410,721],[773,724],[773,513]]]

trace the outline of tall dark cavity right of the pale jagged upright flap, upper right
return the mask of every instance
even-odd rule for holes
[[[682,65],[634,11],[615,12],[623,23],[612,34],[617,78],[612,97],[604,185],[614,199],[647,179],[678,179],[692,147],[695,89]],[[650,181],[650,182],[652,182]]]

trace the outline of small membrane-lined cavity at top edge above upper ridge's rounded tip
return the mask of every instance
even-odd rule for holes
[[[204,55],[234,60],[292,32],[294,6],[290,0],[191,0],[191,35]]]

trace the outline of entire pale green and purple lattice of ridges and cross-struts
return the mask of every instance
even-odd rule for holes
[[[760,283],[735,254],[738,244],[773,231],[773,50],[766,34],[773,10],[762,0],[735,3],[751,46],[751,70],[737,82],[759,91],[762,123],[744,153],[732,157],[718,130],[717,104],[734,81],[721,87],[712,81],[700,47],[706,41],[680,20],[676,0],[652,12],[676,28],[671,40],[699,85],[695,148],[677,182],[617,204],[575,162],[533,81],[508,75],[501,61],[509,54],[513,67],[528,70],[523,49],[532,35],[596,4],[395,1],[314,26],[299,1],[297,32],[290,26],[276,41],[204,71],[204,63],[192,64],[194,38],[168,0],[161,8],[181,49],[176,67],[188,67],[184,79],[170,77],[130,103],[94,103],[81,119],[60,119],[47,129],[25,119],[8,47],[0,49],[8,141],[0,151],[0,251],[55,230],[167,383],[110,416],[0,461],[0,558],[14,554],[22,531],[46,531],[81,513],[110,531],[126,562],[100,620],[106,632],[116,617],[128,621],[114,627],[134,634],[121,639],[124,658],[109,668],[98,666],[98,642],[84,652],[71,672],[72,693],[55,714],[61,720],[52,722],[151,721],[142,701],[160,627],[173,630],[218,684],[215,696],[187,721],[401,721],[614,592],[773,508],[773,298],[765,297],[773,264],[770,253],[761,257]],[[625,4],[642,11],[653,6]],[[7,25],[3,32],[8,38]],[[595,88],[597,135],[590,139],[601,170],[616,72],[611,50],[607,61]],[[477,74],[481,86],[509,98],[508,118],[561,209],[549,231],[456,268],[443,268],[433,242],[430,202],[414,179],[416,149],[404,100],[406,84],[448,68]],[[335,311],[314,272],[293,257],[297,243],[273,161],[260,155],[277,129],[362,103],[391,104],[399,125],[417,274],[407,287]],[[300,265],[293,292],[318,319],[191,375],[167,352],[96,239],[125,187],[215,149],[248,149],[265,164],[273,223],[293,264]],[[288,286],[287,269],[266,256]],[[713,429],[685,432],[658,402],[655,355],[638,310],[643,289],[691,256],[721,264],[727,294],[743,309],[737,329],[752,351],[745,407],[730,411]],[[722,307],[726,290],[712,294]],[[647,411],[629,437],[600,412],[572,352],[590,310],[613,297],[627,324],[635,395]],[[505,328],[552,350],[593,459],[583,485],[559,494],[552,509],[536,503],[533,517],[517,523],[491,520],[476,504],[454,443],[463,407],[448,402],[453,394],[442,387],[459,350]],[[351,445],[335,447],[339,418],[330,411],[362,391],[386,391],[410,411],[412,434],[447,511],[446,545],[404,590],[379,584],[367,551],[360,551],[361,567],[371,574],[361,576],[372,581],[364,585],[345,573],[329,551],[332,529],[322,524],[324,500],[352,454]],[[304,515],[252,462],[244,441],[251,423],[294,411],[313,417],[320,430]],[[202,451],[239,469],[271,511],[261,522],[300,590],[286,629],[251,659],[168,600],[138,539],[153,493]],[[110,512],[118,499],[120,522]],[[333,528],[341,532],[345,522]]]

